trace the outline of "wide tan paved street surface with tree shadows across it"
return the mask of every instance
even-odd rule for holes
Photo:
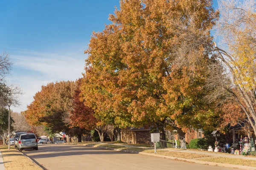
[[[23,153],[47,170],[233,170],[71,144],[41,144]]]

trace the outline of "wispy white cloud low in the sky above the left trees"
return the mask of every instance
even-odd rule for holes
[[[80,47],[81,49],[81,47]],[[81,50],[79,50],[81,51]],[[45,53],[41,51],[16,51],[11,55],[13,73],[9,81],[23,89],[20,97],[20,107],[12,110],[20,112],[33,101],[35,93],[42,85],[61,80],[76,80],[84,72],[84,59],[87,55],[77,51],[67,51],[65,54]]]

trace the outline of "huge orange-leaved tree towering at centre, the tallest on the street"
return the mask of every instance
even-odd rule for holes
[[[203,90],[216,17],[211,0],[121,0],[85,51],[85,105],[101,125],[209,127]]]

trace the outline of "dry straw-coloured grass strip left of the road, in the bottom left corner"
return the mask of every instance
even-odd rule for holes
[[[41,170],[41,168],[13,147],[8,150],[8,147],[0,146],[0,150],[5,170]]]

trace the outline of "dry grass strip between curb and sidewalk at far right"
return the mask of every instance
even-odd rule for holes
[[[245,165],[245,166],[256,167],[256,161],[249,160],[249,159],[211,157],[211,158],[198,159],[198,161],[209,161],[209,162],[216,162],[216,163],[235,164],[235,165]]]

